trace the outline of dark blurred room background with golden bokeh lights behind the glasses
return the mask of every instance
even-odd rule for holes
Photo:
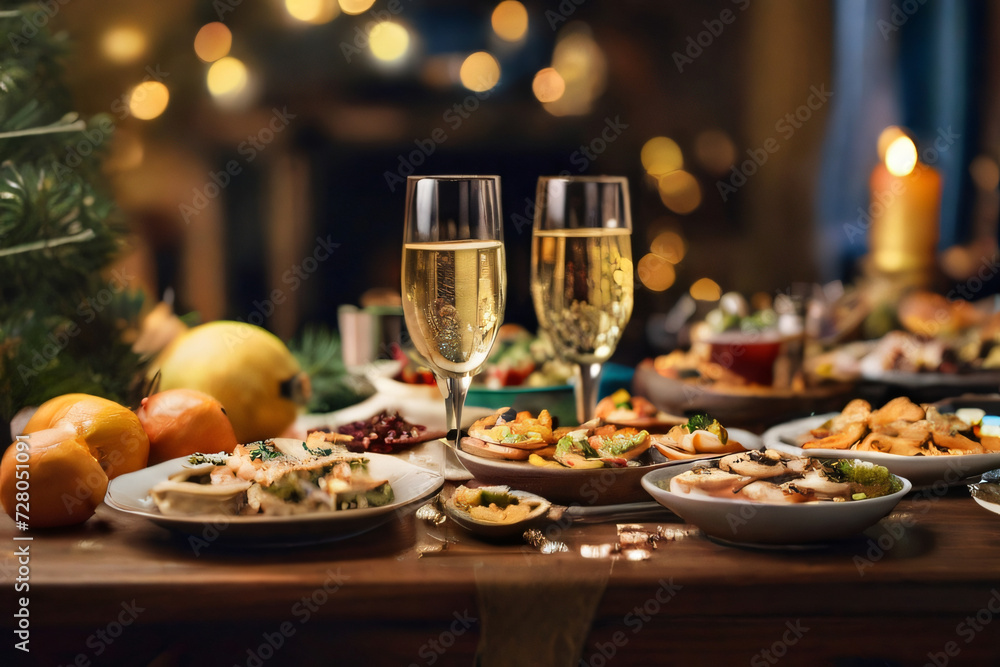
[[[880,134],[942,175],[937,251],[995,252],[1000,5],[940,0],[172,0],[60,5],[78,110],[110,114],[123,266],[178,313],[288,339],[399,289],[408,174],[499,174],[506,320],[538,176],[629,178],[636,306],[851,281]]]

